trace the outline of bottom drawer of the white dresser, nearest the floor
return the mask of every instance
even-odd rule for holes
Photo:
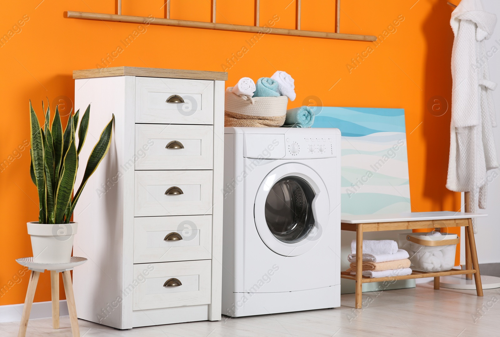
[[[134,264],[133,284],[138,285],[133,289],[132,309],[210,303],[210,269],[210,260]],[[171,278],[175,278],[169,283],[173,286],[166,286]]]

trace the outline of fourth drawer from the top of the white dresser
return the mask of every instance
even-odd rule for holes
[[[211,235],[211,215],[135,217],[133,262],[210,259]]]

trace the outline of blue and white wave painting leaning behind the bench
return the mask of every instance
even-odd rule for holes
[[[342,133],[343,214],[411,211],[404,109],[323,106],[312,127]]]

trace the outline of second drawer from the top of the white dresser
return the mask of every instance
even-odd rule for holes
[[[135,124],[135,153],[135,169],[212,169],[212,126]]]

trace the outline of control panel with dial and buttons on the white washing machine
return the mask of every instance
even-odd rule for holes
[[[335,136],[316,135],[311,137],[304,134],[284,135],[286,154],[285,158],[326,158],[335,157]]]

